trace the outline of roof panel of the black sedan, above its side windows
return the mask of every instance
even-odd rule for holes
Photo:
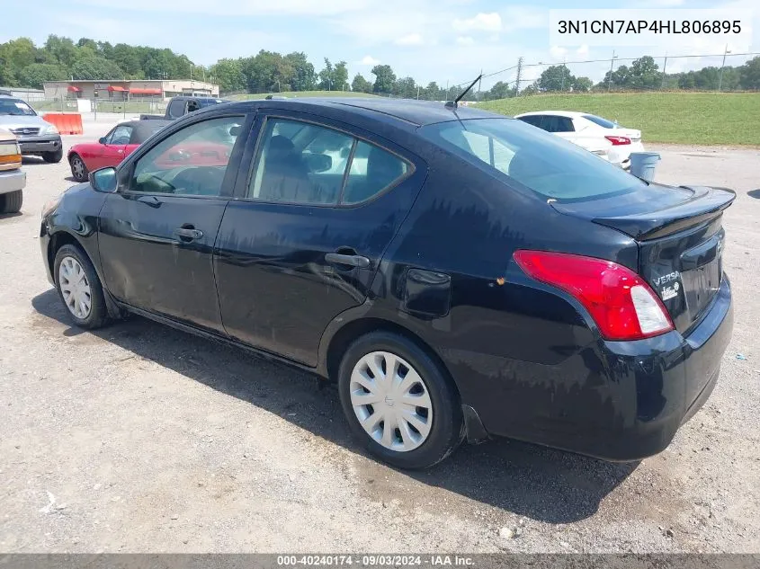
[[[366,119],[395,122],[397,125],[420,127],[449,120],[508,119],[505,115],[482,111],[473,107],[448,108],[443,102],[386,99],[383,97],[303,97],[292,99],[256,99],[233,102],[233,107],[283,109],[290,111],[324,113],[330,116],[342,112],[361,115]]]

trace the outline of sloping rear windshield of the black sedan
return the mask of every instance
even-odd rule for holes
[[[522,120],[470,119],[420,129],[425,138],[546,198],[606,198],[645,186],[604,158]]]

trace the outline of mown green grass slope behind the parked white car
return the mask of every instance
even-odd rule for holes
[[[585,111],[640,129],[645,142],[760,146],[760,93],[589,93],[501,99],[479,108],[514,115]]]

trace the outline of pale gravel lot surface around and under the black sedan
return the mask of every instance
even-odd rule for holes
[[[0,551],[760,551],[760,151],[655,149],[658,180],[738,191],[710,401],[639,464],[496,440],[415,474],[362,454],[305,373],[137,317],[73,328],[37,241],[70,173],[25,160],[0,216]]]

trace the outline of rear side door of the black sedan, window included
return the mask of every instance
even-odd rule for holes
[[[222,321],[241,342],[313,366],[329,322],[367,297],[426,166],[333,120],[279,112],[258,123],[219,227]]]

